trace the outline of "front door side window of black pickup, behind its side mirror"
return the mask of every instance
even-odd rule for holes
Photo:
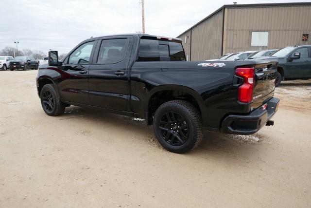
[[[80,45],[69,56],[69,64],[86,64],[89,62],[94,41],[86,42]]]

